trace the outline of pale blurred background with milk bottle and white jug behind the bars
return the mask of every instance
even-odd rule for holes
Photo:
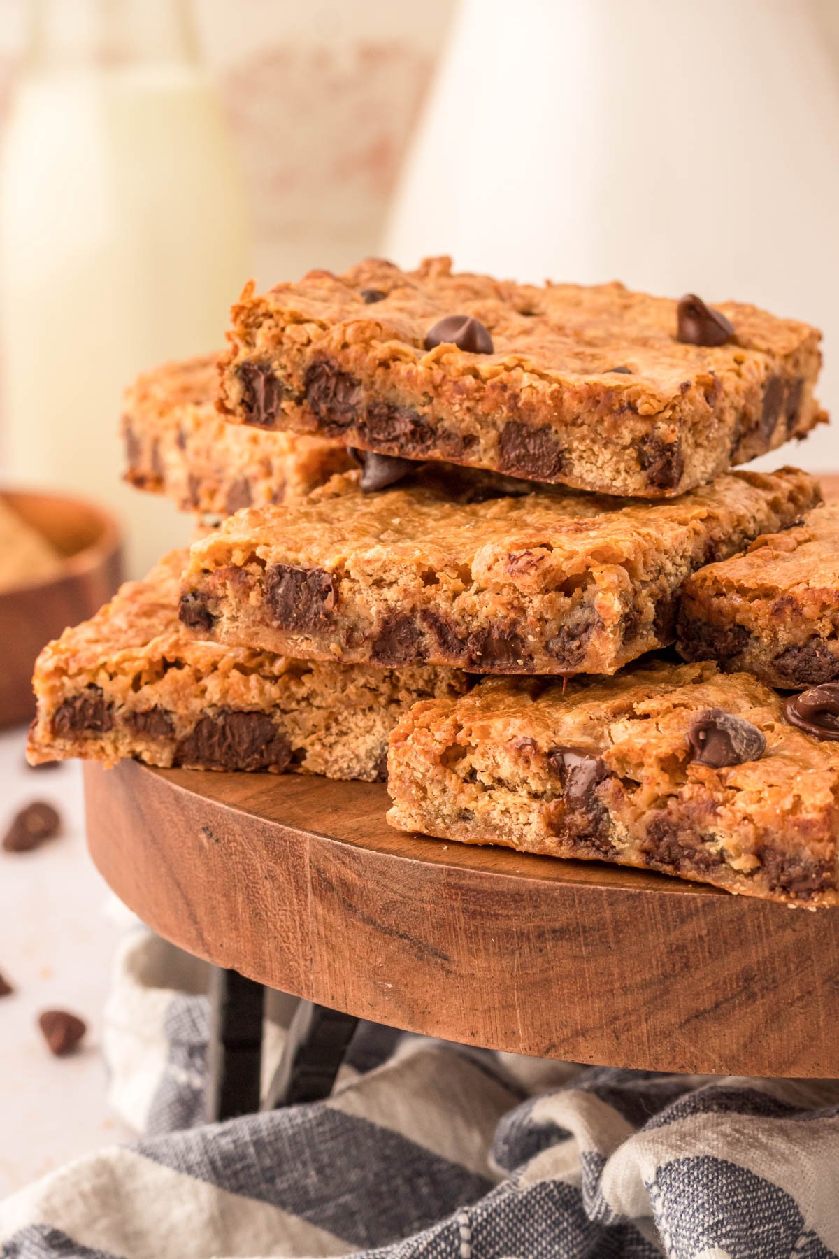
[[[119,390],[252,274],[751,300],[824,327],[839,402],[839,0],[4,0],[0,102],[5,480],[113,506],[135,570],[187,525],[118,486]]]

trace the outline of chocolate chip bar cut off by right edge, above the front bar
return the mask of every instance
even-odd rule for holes
[[[770,686],[839,679],[839,502],[694,573],[682,589],[678,648]]]

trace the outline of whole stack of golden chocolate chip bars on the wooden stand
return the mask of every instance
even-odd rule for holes
[[[839,509],[730,471],[819,366],[753,306],[445,258],[249,286],[123,418],[223,519],[44,650],[30,758],[386,778],[403,830],[836,904]]]

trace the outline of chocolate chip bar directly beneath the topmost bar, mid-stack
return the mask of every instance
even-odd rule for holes
[[[610,674],[672,642],[692,572],[819,499],[795,468],[629,505],[532,485],[513,496],[435,466],[376,495],[358,491],[358,476],[238,512],[196,543],[184,623],[316,660]]]

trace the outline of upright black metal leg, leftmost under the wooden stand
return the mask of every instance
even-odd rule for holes
[[[259,1109],[264,988],[238,971],[213,968],[206,1117],[231,1119]]]

